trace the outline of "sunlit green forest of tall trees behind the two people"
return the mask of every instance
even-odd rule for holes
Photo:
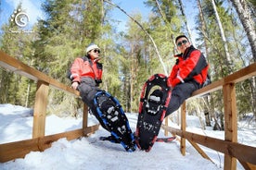
[[[193,27],[187,22],[190,16],[185,13],[185,0],[145,0],[151,11],[147,19],[139,12],[128,14],[111,0],[45,0],[41,6],[45,18],[38,19],[31,32],[22,30],[13,16],[9,17],[1,27],[0,49],[70,86],[67,70],[94,42],[101,49],[104,67],[100,88],[115,96],[125,112],[137,113],[145,81],[156,73],[170,74],[175,64],[173,55],[178,54],[174,40],[180,34],[186,34],[206,56],[211,81],[256,61],[254,0],[191,1],[197,6],[193,7]],[[126,31],[117,30],[119,18],[110,15],[114,8],[127,16]],[[20,9],[21,3],[16,10]],[[35,91],[36,82],[0,67],[0,103],[32,107]],[[236,91],[239,118],[248,113],[255,118],[255,77],[237,83]],[[81,100],[55,90],[49,95],[48,113],[61,108],[67,115],[79,115]],[[186,105],[190,115],[209,113],[214,120],[224,117],[222,91],[189,100]]]

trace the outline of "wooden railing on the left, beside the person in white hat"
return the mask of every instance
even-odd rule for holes
[[[51,146],[53,141],[60,138],[74,140],[82,136],[87,136],[98,129],[98,125],[92,127],[87,126],[88,107],[83,104],[83,128],[45,136],[45,115],[49,87],[51,86],[59,91],[73,94],[76,97],[79,97],[79,92],[58,82],[58,80],[52,79],[44,73],[25,65],[14,57],[6,55],[2,51],[0,51],[0,67],[4,67],[9,71],[13,71],[14,73],[25,76],[28,79],[33,79],[37,82],[33,108],[32,139],[0,144],[1,163],[24,157],[27,153],[32,151],[44,151]]]

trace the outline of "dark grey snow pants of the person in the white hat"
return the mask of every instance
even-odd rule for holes
[[[96,116],[96,119],[98,120],[100,125],[109,131],[109,129],[105,126],[102,119],[99,117],[99,115],[97,115],[97,112],[96,112],[94,98],[95,98],[96,92],[102,91],[102,90],[100,90],[96,86],[95,79],[83,77],[81,79],[81,82],[80,82],[79,86],[77,87],[77,89],[78,89],[78,91],[80,91],[80,96],[82,97],[83,103],[86,103],[88,105],[88,107],[92,111],[93,115]]]

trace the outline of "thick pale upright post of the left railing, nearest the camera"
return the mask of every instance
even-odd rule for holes
[[[33,110],[32,138],[45,136],[45,115],[47,107],[47,97],[49,92],[49,84],[45,81],[37,81],[37,89],[35,92],[35,103]]]

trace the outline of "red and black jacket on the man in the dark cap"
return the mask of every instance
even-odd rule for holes
[[[191,45],[186,49],[184,55],[175,55],[175,57],[178,57],[178,59],[170,73],[168,84],[175,87],[179,83],[196,80],[202,85],[207,78],[209,67],[204,55]]]

